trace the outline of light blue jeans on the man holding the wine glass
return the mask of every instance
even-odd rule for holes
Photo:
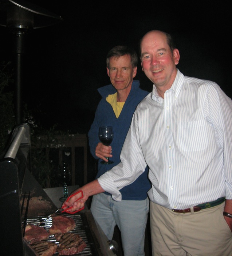
[[[104,193],[94,195],[91,212],[107,238],[111,240],[114,227],[121,231],[124,256],[144,256],[145,229],[149,199],[114,201]]]

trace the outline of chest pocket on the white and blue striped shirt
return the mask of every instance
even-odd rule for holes
[[[204,121],[181,122],[178,125],[178,145],[184,151],[201,151],[209,144]]]

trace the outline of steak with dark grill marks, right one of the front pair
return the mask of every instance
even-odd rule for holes
[[[55,234],[55,238],[59,241],[57,248],[59,255],[74,255],[86,248],[84,240],[75,233]]]

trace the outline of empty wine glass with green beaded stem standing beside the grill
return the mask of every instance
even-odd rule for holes
[[[58,176],[60,177],[60,181],[63,184],[63,190],[64,190],[64,195],[60,197],[60,202],[64,202],[66,198],[68,197],[68,185],[71,180],[71,169],[70,166],[67,163],[63,163],[62,166],[59,166],[59,173]]]

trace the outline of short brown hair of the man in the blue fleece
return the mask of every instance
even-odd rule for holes
[[[110,68],[110,58],[111,57],[121,57],[124,55],[129,55],[131,59],[131,65],[133,68],[137,67],[138,56],[133,48],[124,45],[117,45],[113,47],[106,55],[106,65],[107,68]]]

